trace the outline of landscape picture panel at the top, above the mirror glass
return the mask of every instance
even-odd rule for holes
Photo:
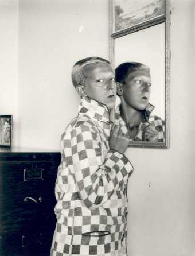
[[[111,34],[128,33],[165,20],[166,0],[110,0]]]

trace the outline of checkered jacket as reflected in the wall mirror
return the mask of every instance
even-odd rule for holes
[[[125,122],[120,117],[120,108],[121,106],[116,112],[116,122],[120,122],[120,125],[123,127],[123,133],[128,134]],[[153,110],[154,106],[149,103],[147,104],[146,109],[142,111],[143,121],[139,124],[138,133],[136,134],[134,141],[144,141],[143,134],[147,130],[147,127],[151,125],[158,132],[158,142],[165,142],[165,121],[157,115],[151,115]],[[130,139],[130,141],[132,141],[132,139]]]

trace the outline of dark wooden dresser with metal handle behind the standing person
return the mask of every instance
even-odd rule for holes
[[[49,256],[59,164],[59,152],[0,152],[1,256]]]

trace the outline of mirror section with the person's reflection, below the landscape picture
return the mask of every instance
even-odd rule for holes
[[[164,20],[154,24],[111,33],[110,57],[130,146],[169,146],[170,42],[167,13]]]

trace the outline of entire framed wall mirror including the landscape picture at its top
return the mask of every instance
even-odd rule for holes
[[[168,1],[112,0],[110,2],[110,59],[114,69],[122,64],[116,71],[116,82],[122,83],[123,95],[119,95],[122,101],[121,113],[130,134],[130,146],[169,147],[170,18],[168,14]],[[142,72],[143,67],[147,70],[149,68],[149,71]],[[145,81],[149,78],[151,87],[150,83]],[[142,108],[137,105],[132,107],[136,95],[130,97],[132,90],[127,90],[125,87],[127,85],[132,87],[134,81],[140,84],[141,96],[145,98],[142,99],[142,103],[145,100]],[[149,86],[145,86],[146,84]],[[138,121],[135,119],[135,126],[131,126],[130,123],[134,123],[135,111],[139,118]]]

